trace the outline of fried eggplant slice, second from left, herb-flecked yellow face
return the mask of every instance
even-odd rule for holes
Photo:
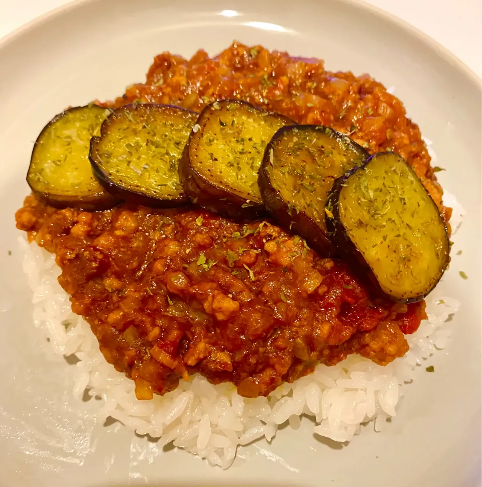
[[[134,103],[114,110],[90,142],[100,184],[135,204],[170,207],[187,201],[178,164],[197,113],[172,105]]]

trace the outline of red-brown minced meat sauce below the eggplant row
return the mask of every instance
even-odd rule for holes
[[[197,209],[57,210],[33,196],[17,222],[56,254],[72,310],[139,399],[194,372],[257,397],[350,353],[386,364],[426,317],[423,301],[371,299],[343,262],[269,222]]]

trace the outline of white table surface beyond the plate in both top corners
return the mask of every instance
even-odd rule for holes
[[[242,1],[242,0],[240,0]],[[69,0],[0,0],[0,38]],[[425,32],[482,77],[480,0],[367,0]]]

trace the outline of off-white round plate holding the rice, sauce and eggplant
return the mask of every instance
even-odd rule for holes
[[[227,10],[231,9],[231,10]],[[67,105],[108,99],[144,79],[164,50],[216,54],[233,39],[323,58],[327,69],[369,72],[399,96],[433,141],[444,188],[467,209],[441,292],[462,302],[447,349],[419,368],[398,416],[349,445],[320,441],[305,422],[272,445],[243,450],[227,471],[183,452],[159,451],[119,425],[94,424],[94,401],[76,402],[71,372],[47,358],[32,325],[14,212],[32,143]],[[74,3],[0,45],[0,485],[264,485],[465,487],[480,466],[480,105],[477,78],[440,46],[368,7],[312,2],[103,0]],[[8,255],[8,251],[12,255]],[[462,280],[463,270],[469,279]]]

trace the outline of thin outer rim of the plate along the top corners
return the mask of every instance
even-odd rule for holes
[[[12,32],[7,34],[6,36],[0,38],[0,51],[5,49],[9,44],[14,43],[19,38],[21,38],[24,34],[28,31],[35,29],[38,25],[44,24],[51,19],[55,19],[67,12],[74,11],[84,5],[87,4],[94,4],[94,3],[101,3],[103,0],[71,0],[70,2],[60,5],[44,14],[41,14],[31,21],[22,24],[21,26],[14,29]],[[306,2],[306,0],[304,0]],[[449,63],[453,68],[459,70],[473,85],[478,91],[482,92],[482,78],[480,78],[469,66],[467,66],[460,58],[458,58],[452,51],[448,48],[440,44],[438,41],[430,37],[428,34],[425,34],[423,31],[418,29],[417,27],[413,26],[412,24],[408,23],[407,21],[385,11],[379,7],[371,5],[364,0],[331,0],[338,4],[344,4],[350,8],[365,10],[368,13],[371,13],[386,22],[395,24],[397,27],[405,30],[411,36],[417,38],[419,41],[423,42],[427,45],[432,51],[439,54],[442,59]],[[159,3],[161,6],[162,4],[167,4],[166,0],[163,0]],[[306,2],[307,3],[307,2]]]

